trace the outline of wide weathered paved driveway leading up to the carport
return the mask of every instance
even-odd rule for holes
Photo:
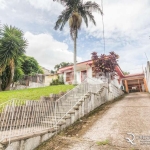
[[[68,138],[72,144],[62,149],[150,150],[150,94],[128,94],[108,107],[84,135]]]

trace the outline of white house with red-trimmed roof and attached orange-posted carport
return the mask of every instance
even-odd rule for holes
[[[115,68],[117,75],[113,77],[111,82],[118,88],[122,88],[127,93],[129,92],[147,92],[147,83],[144,73],[124,75],[119,66]],[[95,78],[93,73],[93,61],[88,60],[77,63],[76,65],[77,83],[80,84],[87,77]],[[73,84],[73,65],[61,68],[58,70],[59,75],[63,75],[65,84]],[[99,77],[99,80],[104,81],[105,77]]]

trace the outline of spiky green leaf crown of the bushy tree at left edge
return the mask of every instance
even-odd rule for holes
[[[23,37],[23,32],[16,27],[4,25],[1,31],[0,39],[0,72],[12,60],[16,60],[20,55],[25,53],[27,41]]]

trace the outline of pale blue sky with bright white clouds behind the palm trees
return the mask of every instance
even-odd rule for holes
[[[87,0],[83,0],[86,2]],[[101,0],[92,0],[101,7]],[[102,8],[102,7],[101,7]],[[141,72],[150,59],[150,1],[103,0],[105,52],[102,16],[93,12],[96,26],[83,21],[77,39],[77,61],[114,51],[123,71]],[[73,41],[68,23],[63,31],[54,30],[64,6],[53,0],[0,0],[0,22],[18,27],[28,41],[26,55],[47,69],[61,62],[73,62]]]

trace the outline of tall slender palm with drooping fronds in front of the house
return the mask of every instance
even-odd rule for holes
[[[69,21],[70,35],[72,37],[72,40],[74,41],[74,84],[76,84],[77,83],[76,81],[77,41],[76,40],[78,37],[78,30],[80,29],[82,24],[82,19],[84,20],[87,27],[88,27],[88,20],[90,20],[94,25],[96,25],[94,16],[92,15],[92,11],[98,11],[101,14],[103,13],[99,5],[91,1],[87,1],[85,3],[83,3],[82,0],[53,0],[53,1],[58,1],[65,6],[65,10],[63,10],[59,15],[54,29],[62,30],[66,22]]]

